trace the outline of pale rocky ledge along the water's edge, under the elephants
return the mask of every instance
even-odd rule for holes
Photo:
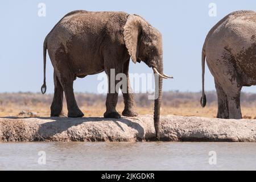
[[[256,142],[256,121],[200,117],[161,117],[163,141]],[[110,141],[155,140],[152,115],[104,118],[0,118],[0,141]]]

